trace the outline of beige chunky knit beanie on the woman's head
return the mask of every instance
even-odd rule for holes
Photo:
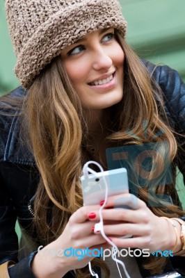
[[[108,27],[124,37],[127,29],[118,0],[6,0],[6,17],[17,56],[15,74],[27,89],[79,38]]]

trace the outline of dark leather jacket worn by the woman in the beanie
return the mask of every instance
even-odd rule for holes
[[[185,84],[179,74],[170,67],[158,66],[154,70],[154,65],[151,63],[145,61],[143,63],[161,86],[166,114],[172,128],[179,133],[185,133]],[[19,87],[12,94],[22,97],[26,92]],[[0,264],[13,260],[17,264],[10,268],[10,277],[31,278],[35,277],[31,272],[34,253],[18,261],[15,221],[19,221],[24,231],[31,233],[33,221],[31,206],[38,186],[39,174],[32,154],[21,142],[19,129],[17,115],[0,116]],[[177,140],[181,139],[177,138]],[[179,151],[179,156],[181,163],[178,167],[185,177],[185,154]],[[36,240],[34,232],[31,236]],[[184,262],[184,257],[174,256],[170,268],[185,275]],[[143,277],[148,276],[147,272],[141,269],[140,271]],[[74,273],[68,272],[65,277],[74,277]]]

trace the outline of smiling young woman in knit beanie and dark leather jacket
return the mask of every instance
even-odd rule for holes
[[[134,54],[117,0],[7,0],[6,12],[22,87],[1,98],[0,277],[89,277],[89,261],[99,277],[118,277],[101,258],[56,252],[111,247],[94,232],[102,203],[83,206],[79,177],[87,161],[107,170],[108,150],[133,146],[152,166],[143,172],[143,157],[117,159],[126,161],[131,193],[108,197],[104,232],[120,248],[173,252],[123,259],[130,277],[183,275],[174,170],[185,173],[185,85],[177,72]]]

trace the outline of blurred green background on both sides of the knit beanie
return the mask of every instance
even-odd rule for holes
[[[185,0],[120,0],[128,22],[127,42],[140,57],[166,64],[185,81]],[[0,95],[19,85],[8,35],[4,0],[0,1]]]

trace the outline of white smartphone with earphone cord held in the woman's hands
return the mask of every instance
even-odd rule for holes
[[[105,198],[106,186],[103,176],[108,186],[108,196],[129,193],[127,170],[119,168],[94,174],[88,177],[82,176],[81,186],[83,193],[83,206],[99,204]]]

